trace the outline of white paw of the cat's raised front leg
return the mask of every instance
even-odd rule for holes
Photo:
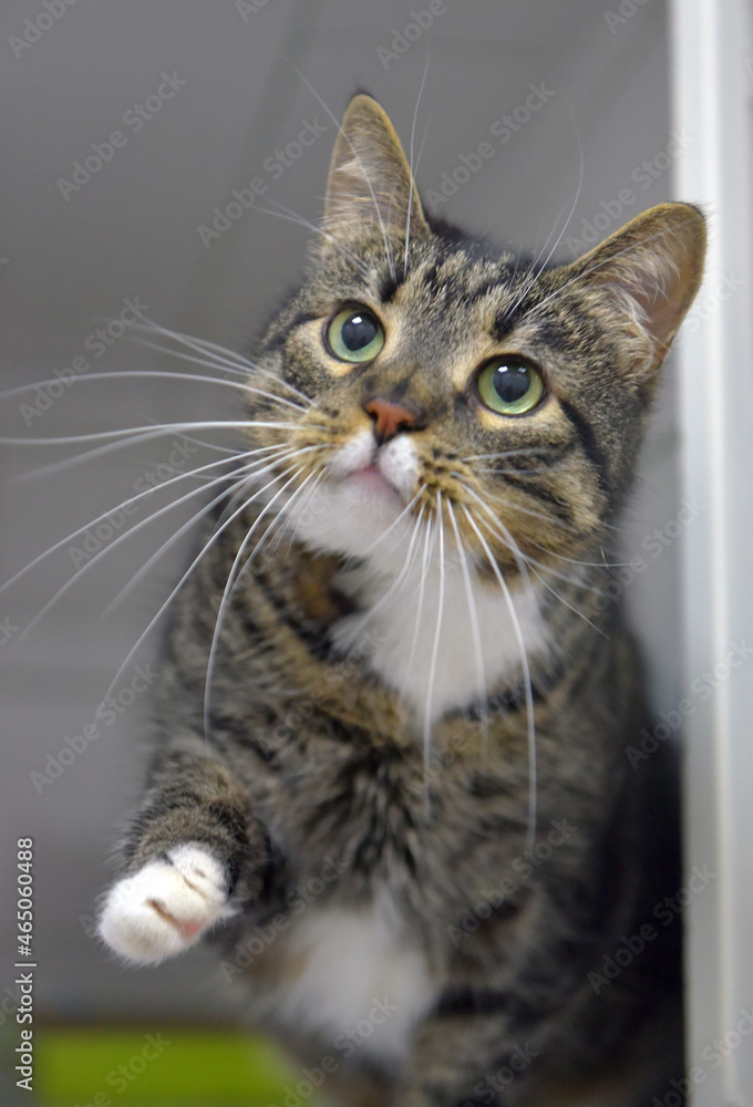
[[[118,880],[100,915],[100,938],[136,964],[183,953],[236,912],[228,903],[225,870],[204,846],[176,846],[167,856],[169,861],[149,861]]]

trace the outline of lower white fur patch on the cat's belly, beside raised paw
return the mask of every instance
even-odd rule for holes
[[[278,1015],[317,1034],[336,1057],[359,1051],[398,1063],[436,995],[423,953],[399,934],[385,902],[311,907],[288,935],[295,979],[276,995]]]

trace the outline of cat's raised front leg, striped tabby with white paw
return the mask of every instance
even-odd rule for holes
[[[183,953],[261,890],[269,849],[247,797],[193,739],[162,753],[122,846],[124,875],[105,894],[99,934],[127,961]]]

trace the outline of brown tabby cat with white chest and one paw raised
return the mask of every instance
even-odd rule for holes
[[[652,925],[677,770],[626,757],[647,714],[602,549],[704,241],[662,204],[567,265],[499,254],[347,108],[99,922],[135,964],[225,942],[308,1087],[644,1107],[681,1077],[680,927]]]

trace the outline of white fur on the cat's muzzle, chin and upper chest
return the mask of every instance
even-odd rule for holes
[[[363,560],[339,581],[360,610],[334,627],[334,640],[344,653],[368,655],[372,671],[400,693],[424,727],[514,677],[522,664],[518,634],[529,661],[546,654],[550,643],[534,587],[518,588],[508,601],[498,587],[477,579],[466,554],[468,596],[462,566],[452,556],[454,536],[446,529],[444,571],[436,536],[424,556],[425,528],[416,535],[415,517],[401,517],[416,489],[410,435],[380,451],[384,480],[373,469],[363,474],[373,459],[371,433],[354,435],[330,465],[334,479],[319,486],[300,515],[293,510],[291,523],[314,549]]]

